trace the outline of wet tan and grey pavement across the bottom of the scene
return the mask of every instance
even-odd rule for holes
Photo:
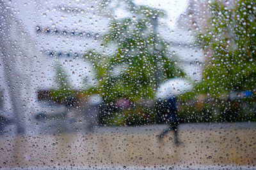
[[[255,123],[182,124],[181,145],[175,145],[172,132],[163,141],[158,141],[156,135],[164,128],[166,125],[147,125],[99,127],[94,132],[76,134],[4,134],[0,138],[0,166],[26,169],[253,169],[256,165]]]

